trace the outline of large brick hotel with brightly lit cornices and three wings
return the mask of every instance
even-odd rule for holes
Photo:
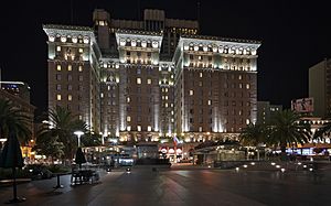
[[[97,9],[93,20],[94,28],[43,25],[50,108],[128,142],[235,139],[256,121],[260,42],[197,35],[197,21],[162,10],[129,21]]]

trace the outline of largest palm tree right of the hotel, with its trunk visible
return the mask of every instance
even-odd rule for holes
[[[310,124],[300,120],[300,116],[297,112],[284,110],[275,115],[269,130],[268,142],[280,147],[281,160],[286,158],[287,144],[303,144],[310,139]]]

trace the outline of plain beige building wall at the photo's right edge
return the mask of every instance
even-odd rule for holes
[[[309,97],[313,98],[313,116],[331,115],[331,59],[325,58],[309,68]]]

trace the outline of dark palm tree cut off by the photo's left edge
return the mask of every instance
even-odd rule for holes
[[[0,135],[8,139],[9,132],[13,132],[22,144],[31,139],[29,128],[31,118],[22,109],[15,107],[10,100],[0,99]]]

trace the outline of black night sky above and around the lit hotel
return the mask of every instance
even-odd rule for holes
[[[73,0],[74,24],[88,25],[95,8],[114,19],[137,19],[139,9],[164,9],[168,18],[196,19],[197,0]],[[201,34],[259,40],[258,100],[289,107],[308,96],[308,68],[331,56],[328,1],[200,0]],[[138,7],[140,6],[140,7]],[[47,45],[43,23],[71,24],[71,1],[8,1],[0,7],[2,80],[26,82],[32,104],[46,110]]]

